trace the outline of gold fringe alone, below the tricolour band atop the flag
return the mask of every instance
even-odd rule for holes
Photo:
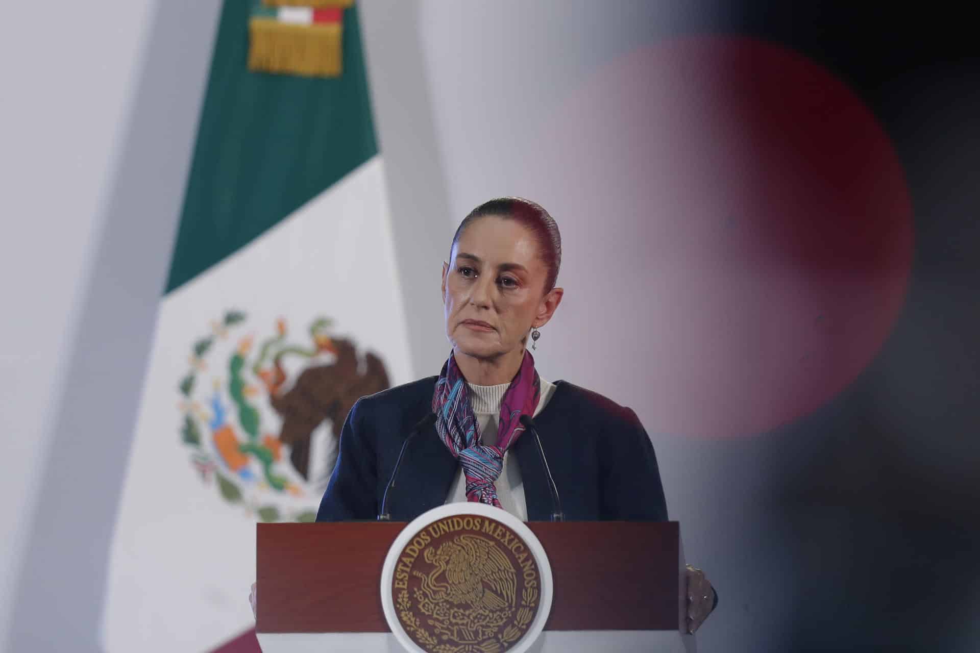
[[[295,24],[253,18],[249,21],[249,70],[308,77],[339,77],[341,23]]]

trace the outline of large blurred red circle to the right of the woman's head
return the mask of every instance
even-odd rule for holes
[[[592,221],[569,225],[563,285],[598,296],[573,319],[637,344],[613,364],[642,361],[648,430],[772,429],[880,350],[911,202],[888,135],[831,72],[755,39],[670,39],[596,70],[551,118],[525,171],[556,215]]]

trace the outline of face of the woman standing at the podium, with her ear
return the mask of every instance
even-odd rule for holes
[[[548,269],[534,234],[488,215],[469,223],[443,266],[446,336],[457,354],[520,354],[532,327],[551,319],[562,289],[545,293]]]

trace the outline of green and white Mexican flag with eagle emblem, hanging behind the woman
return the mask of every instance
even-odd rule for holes
[[[333,76],[264,71],[263,22],[332,34]],[[316,35],[298,38],[272,54],[315,56]],[[356,8],[227,0],[123,484],[107,651],[209,651],[254,626],[256,522],[312,521],[353,402],[413,378],[394,256]]]

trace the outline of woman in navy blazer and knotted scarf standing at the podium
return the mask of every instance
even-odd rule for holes
[[[354,405],[318,521],[374,519],[410,435],[386,504],[391,519],[466,500],[550,519],[545,468],[533,435],[522,436],[524,415],[540,435],[565,519],[667,519],[657,458],[636,414],[542,379],[527,350],[528,336],[536,344],[562,303],[561,262],[558,226],[533,202],[491,200],[466,216],[442,270],[449,359],[438,377]],[[689,568],[688,579],[693,632],[717,597],[700,570]]]

